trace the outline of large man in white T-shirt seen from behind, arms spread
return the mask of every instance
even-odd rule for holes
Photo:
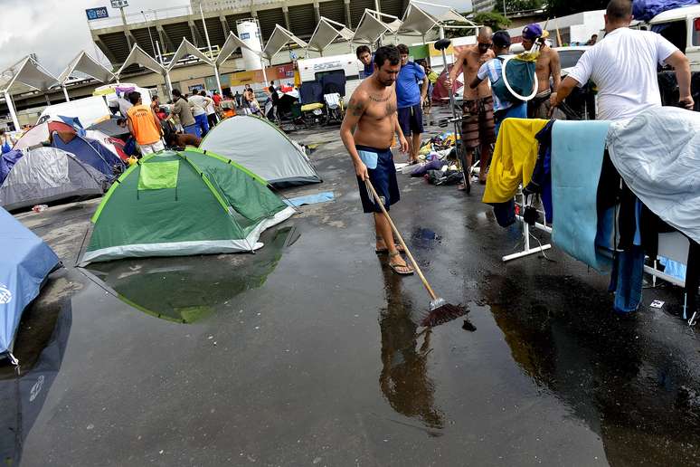
[[[693,109],[690,65],[683,52],[663,36],[629,29],[632,2],[612,0],[605,14],[605,37],[583,53],[576,67],[562,81],[556,96],[560,105],[574,86],[589,80],[598,87],[598,119],[633,119],[644,110],[661,106],[657,63],[676,71],[679,104]]]

